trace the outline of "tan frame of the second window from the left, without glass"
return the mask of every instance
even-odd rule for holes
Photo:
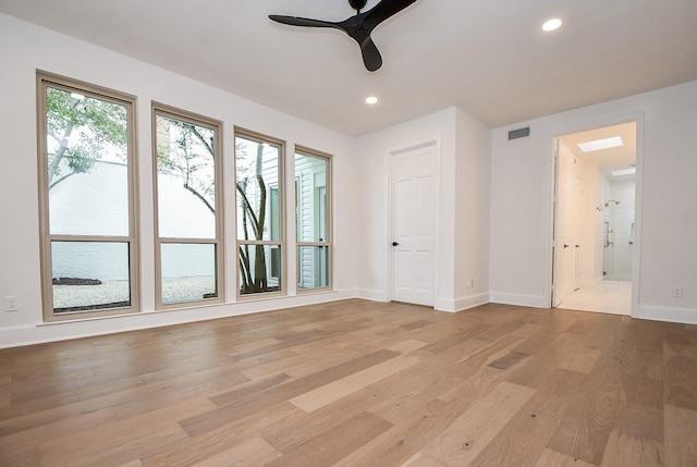
[[[154,200],[154,241],[155,241],[155,308],[157,310],[179,309],[196,307],[201,305],[213,305],[224,303],[225,299],[225,274],[224,274],[224,192],[222,183],[223,174],[223,124],[219,120],[210,119],[194,112],[178,109],[164,103],[151,103],[151,134],[152,134],[152,200]],[[158,131],[157,118],[178,120],[194,125],[199,125],[213,131],[215,135],[215,217],[216,217],[216,237],[215,238],[182,238],[182,237],[162,237],[160,236],[159,222],[159,187],[158,187]],[[198,300],[184,300],[174,303],[164,303],[162,299],[162,245],[215,245],[215,268],[216,268],[216,291],[217,296],[210,298],[201,298]]]

